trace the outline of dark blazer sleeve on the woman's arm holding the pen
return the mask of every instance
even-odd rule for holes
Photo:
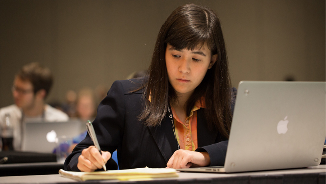
[[[93,122],[94,130],[102,151],[111,154],[117,149],[123,136],[125,114],[125,91],[120,81],[115,81],[107,96],[102,100],[97,109],[97,115]],[[83,149],[94,145],[89,134],[81,141],[67,157],[64,169],[68,171],[80,171],[77,168],[78,157]],[[117,169],[117,164],[111,158],[106,163],[107,169]]]

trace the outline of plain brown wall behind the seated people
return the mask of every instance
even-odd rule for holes
[[[325,81],[325,1],[0,1],[0,107],[24,64],[48,66],[48,102],[67,90],[107,88],[147,69],[161,25],[179,5],[214,9],[233,86],[241,80]]]

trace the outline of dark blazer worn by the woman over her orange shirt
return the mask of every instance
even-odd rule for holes
[[[93,122],[101,149],[111,154],[117,149],[120,169],[166,167],[169,158],[178,149],[167,116],[160,126],[155,127],[147,127],[138,120],[144,106],[144,90],[129,92],[139,88],[142,82],[143,78],[115,81],[98,106]],[[224,165],[228,141],[218,132],[208,129],[202,109],[197,112],[197,138],[199,148],[196,151],[208,152],[211,166]],[[91,145],[93,142],[87,134],[67,157],[64,169],[79,171],[78,156]],[[116,168],[112,159],[106,165],[111,169]]]

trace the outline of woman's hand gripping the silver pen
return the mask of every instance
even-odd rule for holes
[[[111,153],[102,151],[102,155],[95,146],[89,146],[78,157],[77,168],[82,172],[92,172],[103,168],[103,165],[111,158]]]

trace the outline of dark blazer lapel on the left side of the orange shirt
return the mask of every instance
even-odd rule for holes
[[[148,127],[148,129],[167,163],[172,154],[178,149],[169,118],[166,116],[161,125]]]

